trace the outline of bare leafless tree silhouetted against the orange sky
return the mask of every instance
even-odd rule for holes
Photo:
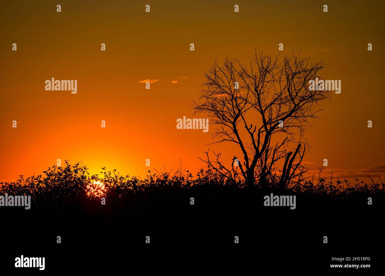
[[[304,131],[309,119],[322,110],[319,102],[330,96],[328,91],[309,89],[309,81],[320,78],[321,62],[311,64],[309,58],[294,53],[283,57],[283,62],[278,58],[256,52],[248,65],[228,58],[223,66],[214,62],[205,73],[199,101],[194,102],[194,113],[208,114],[215,126],[213,143],[235,143],[242,152],[242,158],[234,156],[227,167],[220,153],[214,153],[214,160],[208,152],[206,160],[200,159],[221,175],[249,186],[258,178],[263,187],[281,161],[281,189],[302,176]]]

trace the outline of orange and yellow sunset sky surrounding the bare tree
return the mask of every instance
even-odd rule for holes
[[[331,93],[306,132],[313,147],[306,163],[321,167],[327,158],[325,177],[384,179],[384,8],[377,1],[3,2],[0,181],[41,174],[58,158],[141,178],[180,158],[195,174],[213,127],[177,130],[176,119],[207,118],[191,109],[204,73],[216,59],[249,62],[254,48],[276,56],[279,43],[280,56],[301,50],[329,65],[325,79],[341,80],[341,94]],[[52,77],[76,79],[77,94],[45,91]],[[157,80],[149,90],[146,79]],[[235,152],[229,144],[210,150],[224,160]]]

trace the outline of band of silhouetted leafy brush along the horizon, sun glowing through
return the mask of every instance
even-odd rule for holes
[[[0,194],[8,195],[30,195],[33,207],[50,205],[51,207],[84,205],[91,202],[100,204],[104,197],[110,205],[132,205],[137,200],[149,200],[157,196],[167,196],[169,199],[178,201],[181,195],[193,194],[198,197],[210,195],[239,194],[266,195],[269,193],[299,195],[306,198],[320,200],[357,200],[367,197],[384,197],[384,184],[364,183],[356,178],[355,183],[348,180],[326,180],[318,178],[317,182],[311,180],[298,182],[292,180],[285,190],[281,191],[280,175],[270,174],[265,183],[255,181],[249,185],[244,181],[235,182],[226,178],[212,168],[201,169],[196,175],[191,172],[156,172],[148,171],[147,177],[122,176],[116,170],[107,171],[102,168],[100,174],[91,175],[86,166],[80,163],[71,165],[65,160],[64,166],[49,167],[43,175],[24,178],[20,175],[15,182],[0,182]],[[103,184],[99,189],[98,184]],[[94,187],[96,185],[96,187]],[[98,191],[99,190],[99,191]]]

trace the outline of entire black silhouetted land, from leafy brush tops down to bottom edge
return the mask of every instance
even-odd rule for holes
[[[279,176],[268,179],[262,186],[259,181],[250,186],[207,168],[194,176],[180,171],[149,173],[141,180],[105,169],[99,176],[90,175],[86,167],[66,161],[44,175],[20,176],[0,186],[1,195],[32,198],[29,210],[0,208],[10,222],[3,237],[12,241],[2,261],[14,263],[23,252],[45,256],[47,271],[59,267],[69,272],[84,264],[95,272],[115,269],[88,266],[95,260],[124,264],[128,258],[130,264],[145,266],[151,258],[154,266],[170,264],[182,270],[192,263],[212,266],[224,261],[228,265],[220,271],[247,273],[255,265],[277,264],[326,271],[331,256],[365,252],[372,267],[380,268],[383,235],[367,226],[382,224],[382,183],[331,183],[324,178],[300,185],[291,182],[283,192],[297,197],[296,209],[290,210],[264,206],[265,195],[281,192]],[[97,181],[105,185],[105,205],[101,195],[87,195],[89,184]],[[373,205],[368,205],[368,197]],[[57,236],[62,244],[56,243]],[[151,244],[145,243],[147,236]],[[234,244],[236,236],[239,244]],[[323,244],[324,236],[329,244]],[[178,255],[180,261],[175,261]]]

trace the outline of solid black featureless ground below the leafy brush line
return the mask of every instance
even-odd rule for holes
[[[368,205],[367,197],[297,195],[295,210],[265,207],[263,195],[247,190],[204,196],[184,191],[124,202],[107,198],[106,205],[96,201],[62,209],[33,202],[30,210],[1,207],[2,273],[275,275],[335,270],[370,275],[384,268],[385,204],[379,197]],[[21,255],[45,257],[45,270],[15,268],[15,257]],[[331,261],[346,256],[370,261]],[[346,263],[371,268],[330,268]]]

